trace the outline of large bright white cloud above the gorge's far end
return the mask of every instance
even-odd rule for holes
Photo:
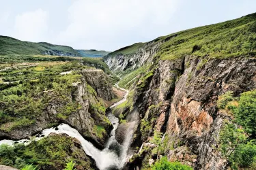
[[[57,43],[116,50],[113,47],[150,40],[167,32],[176,6],[177,0],[76,0]]]

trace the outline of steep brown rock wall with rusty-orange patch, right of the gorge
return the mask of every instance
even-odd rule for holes
[[[152,76],[137,84],[135,105],[141,123],[133,146],[150,142],[154,130],[165,134],[161,154],[195,169],[226,169],[218,151],[218,134],[223,120],[218,111],[218,95],[232,90],[236,96],[256,88],[256,59],[202,58],[186,56],[173,61],[159,61]],[[149,122],[149,123],[147,123]],[[166,139],[166,140],[165,140]],[[153,145],[154,146],[154,145]],[[156,156],[142,150],[130,163],[148,166]]]

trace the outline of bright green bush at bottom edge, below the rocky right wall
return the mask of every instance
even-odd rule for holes
[[[181,163],[171,163],[167,160],[167,157],[162,157],[152,167],[152,170],[193,170],[192,167],[182,165]]]

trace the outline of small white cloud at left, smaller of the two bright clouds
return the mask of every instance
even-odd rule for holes
[[[18,14],[15,18],[13,35],[26,41],[44,41],[48,33],[48,12],[38,9]]]

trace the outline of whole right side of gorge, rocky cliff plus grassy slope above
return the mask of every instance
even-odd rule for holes
[[[256,88],[255,48],[225,54],[221,53],[224,50],[207,52],[205,46],[212,41],[223,44],[231,35],[217,39],[211,34],[228,33],[233,27],[237,27],[232,31],[238,31],[234,31],[238,37],[247,36],[239,32],[240,25],[250,30],[254,16],[160,37],[137,50],[134,44],[104,57],[112,71],[128,79],[126,82],[132,81],[126,88],[134,89],[132,105],[139,111],[139,126],[131,148],[137,154],[126,169],[150,168],[159,155],[194,169],[227,169],[218,138],[224,122],[232,116],[218,109],[216,102],[225,92],[232,91],[239,97]],[[214,32],[216,27],[225,29]],[[205,41],[210,39],[208,45],[203,44],[199,33]],[[184,34],[189,38],[184,39]],[[141,67],[145,69],[140,70]],[[130,106],[119,109],[119,114],[128,115],[127,107]],[[160,143],[154,143],[154,137],[161,137]]]

